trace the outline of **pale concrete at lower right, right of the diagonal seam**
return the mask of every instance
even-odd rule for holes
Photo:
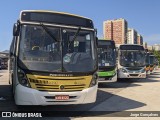
[[[102,111],[103,116],[105,111],[113,111],[112,114],[106,116],[112,117],[83,117],[84,120],[160,120],[159,117],[118,117],[123,111],[160,111],[160,69],[148,76],[147,79],[135,79],[133,83],[126,89],[116,93],[111,98],[95,106],[90,111]],[[134,84],[134,85],[133,85]],[[115,111],[115,112],[114,112]],[[116,114],[116,111],[123,113]],[[151,112],[152,113],[152,112]],[[104,115],[105,116],[105,115]],[[116,117],[113,117],[116,116]],[[79,120],[82,118],[76,118]]]

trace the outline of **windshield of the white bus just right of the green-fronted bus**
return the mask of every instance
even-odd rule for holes
[[[133,50],[121,51],[120,64],[124,67],[143,67],[145,66],[145,52]]]

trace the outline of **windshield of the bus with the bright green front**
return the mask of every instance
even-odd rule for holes
[[[105,45],[98,48],[98,66],[115,66],[116,53],[112,45]]]

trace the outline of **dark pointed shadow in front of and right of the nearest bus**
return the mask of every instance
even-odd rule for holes
[[[98,99],[103,97],[103,99]],[[114,97],[110,100],[108,98]],[[107,100],[107,101],[106,101]],[[105,104],[103,105],[103,103]],[[102,103],[102,104],[101,104]],[[94,108],[96,106],[98,108]],[[87,105],[54,105],[54,106],[21,106],[17,111],[20,112],[41,112],[45,116],[54,117],[87,117],[87,116],[104,116],[113,114],[118,111],[126,111],[145,106],[144,103],[124,98],[118,95],[110,94],[99,90],[97,101]]]

